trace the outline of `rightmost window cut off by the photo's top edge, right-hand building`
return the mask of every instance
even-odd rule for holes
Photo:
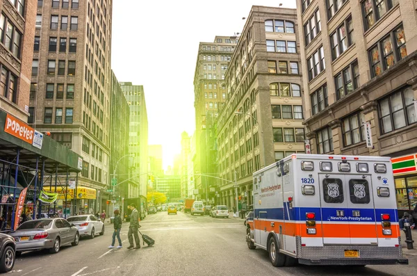
[[[397,6],[398,0],[365,0],[362,2],[365,31],[370,29],[387,11]]]

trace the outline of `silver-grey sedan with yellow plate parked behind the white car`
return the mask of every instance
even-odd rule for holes
[[[24,251],[40,249],[58,253],[61,246],[76,246],[80,240],[79,230],[63,218],[28,220],[10,232],[10,236],[15,238],[17,256]]]

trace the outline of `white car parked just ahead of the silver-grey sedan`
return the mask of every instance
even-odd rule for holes
[[[79,229],[80,236],[94,238],[98,233],[104,235],[104,223],[94,215],[70,216],[67,220]]]

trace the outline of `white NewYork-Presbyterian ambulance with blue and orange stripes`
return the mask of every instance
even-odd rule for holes
[[[390,158],[293,154],[253,180],[247,245],[273,266],[408,264]]]

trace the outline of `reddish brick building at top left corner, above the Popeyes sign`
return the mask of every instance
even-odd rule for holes
[[[2,1],[0,10],[0,108],[27,122],[36,3]]]

